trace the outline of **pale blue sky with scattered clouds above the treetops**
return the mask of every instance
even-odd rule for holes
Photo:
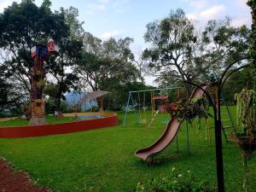
[[[20,2],[21,0],[16,0]],[[12,0],[0,0],[0,13]],[[35,0],[39,6],[43,1]],[[134,38],[131,49],[144,49],[143,35],[146,25],[163,19],[170,10],[183,9],[186,15],[196,20],[200,29],[207,20],[222,20],[229,16],[232,26],[243,24],[251,27],[250,9],[247,0],[51,0],[52,9],[73,6],[79,9],[79,20],[84,21],[84,30],[97,38]]]

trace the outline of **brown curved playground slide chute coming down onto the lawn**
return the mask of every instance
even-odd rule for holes
[[[201,85],[201,89],[207,90],[209,84],[203,84]],[[203,96],[204,92],[199,88],[196,88],[193,93],[191,94],[189,100],[191,100],[194,97]],[[160,154],[165,148],[168,147],[169,144],[173,142],[175,137],[177,136],[177,131],[180,127],[182,122],[177,121],[177,119],[172,118],[167,127],[164,134],[151,146],[148,148],[142,148],[135,152],[135,156],[142,160],[148,160],[149,157],[152,157],[156,154]]]

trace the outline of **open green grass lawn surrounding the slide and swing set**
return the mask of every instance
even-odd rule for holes
[[[232,108],[232,114],[235,108]],[[141,114],[143,115],[143,114]],[[196,122],[189,125],[191,154],[187,150],[185,125],[178,133],[178,151],[172,143],[154,158],[154,166],[138,160],[138,148],[153,143],[165,130],[166,115],[159,115],[152,127],[137,124],[133,115],[122,126],[124,113],[119,113],[118,126],[67,135],[23,139],[0,139],[0,156],[16,170],[23,170],[38,184],[65,191],[133,191],[137,182],[152,177],[166,177],[175,166],[181,172],[190,170],[201,179],[216,184],[214,130],[212,142],[205,139],[204,120],[201,130]],[[211,120],[212,124],[212,120]],[[224,180],[226,191],[242,191],[241,150],[224,141]],[[255,156],[255,155],[254,155]],[[256,160],[248,161],[251,191],[256,190]]]

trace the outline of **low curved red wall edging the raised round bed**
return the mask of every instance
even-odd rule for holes
[[[106,118],[80,120],[61,124],[3,127],[0,128],[0,138],[41,137],[100,129],[113,125],[118,125],[116,113]]]

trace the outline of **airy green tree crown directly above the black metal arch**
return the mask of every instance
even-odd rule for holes
[[[230,19],[209,20],[202,38],[204,46],[204,62],[211,67],[209,75],[219,77],[232,61],[247,55],[250,31],[247,26],[230,26]]]

